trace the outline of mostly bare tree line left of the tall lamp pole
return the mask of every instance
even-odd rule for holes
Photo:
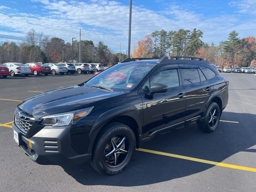
[[[91,40],[81,40],[81,62],[102,63],[112,65],[119,62],[119,53],[114,53],[104,42],[94,44]],[[65,40],[45,36],[43,32],[32,29],[27,32],[26,39],[21,43],[4,42],[0,45],[0,64],[5,62],[79,62],[79,41],[65,42]],[[126,54],[121,54],[121,60]]]

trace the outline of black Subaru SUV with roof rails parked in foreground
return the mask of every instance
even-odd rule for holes
[[[116,174],[161,132],[193,123],[213,132],[227,104],[228,80],[203,58],[128,59],[24,100],[15,109],[14,140],[39,164],[90,159],[98,172]]]

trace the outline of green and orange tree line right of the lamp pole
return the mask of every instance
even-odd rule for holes
[[[202,41],[201,30],[154,31],[134,46],[133,57],[197,56],[218,66],[256,67],[256,38],[240,39],[238,32],[230,32],[226,41],[218,45]]]

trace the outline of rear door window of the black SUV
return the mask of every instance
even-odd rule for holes
[[[181,73],[185,85],[200,82],[197,68],[181,69]]]

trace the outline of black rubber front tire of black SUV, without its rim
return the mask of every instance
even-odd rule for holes
[[[129,142],[129,149],[128,149],[128,156],[126,157],[126,160],[120,164],[120,166],[116,168],[112,168],[108,166],[104,159],[104,150],[106,147],[106,144],[115,136],[123,134],[126,136],[126,140]],[[96,147],[96,153],[94,154],[94,162],[96,163],[96,168],[99,172],[106,175],[114,175],[119,172],[122,172],[126,166],[130,163],[132,160],[132,156],[134,154],[136,148],[136,138],[134,136],[133,131],[125,125],[119,125],[114,126],[111,131],[107,131],[105,134],[102,135],[100,138],[100,142],[98,142],[98,145]]]

